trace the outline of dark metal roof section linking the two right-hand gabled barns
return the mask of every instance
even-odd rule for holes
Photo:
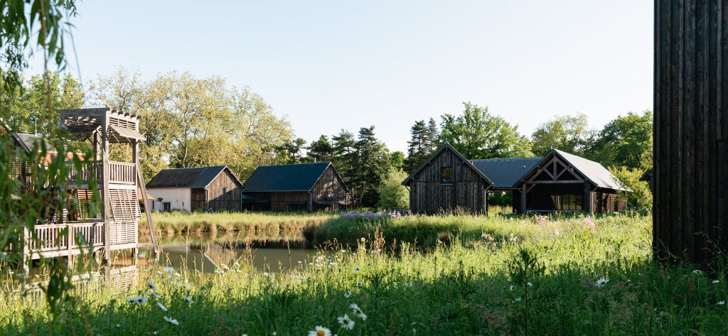
[[[472,164],[493,181],[494,189],[512,189],[541,159],[543,158],[478,159],[472,160]]]

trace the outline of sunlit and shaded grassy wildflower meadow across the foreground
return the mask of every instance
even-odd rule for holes
[[[146,265],[63,323],[22,292],[2,335],[726,335],[727,268],[652,260],[649,215],[332,215],[317,257],[266,273]]]

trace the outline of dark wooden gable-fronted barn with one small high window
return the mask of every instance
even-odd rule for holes
[[[412,212],[428,215],[456,209],[484,213],[488,209],[486,192],[493,187],[450,143],[440,146],[402,184],[409,188]]]

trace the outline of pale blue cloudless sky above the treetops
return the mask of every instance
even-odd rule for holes
[[[601,129],[652,110],[652,5],[84,0],[66,71],[84,83],[119,67],[145,81],[221,76],[264,97],[309,143],[374,125],[390,151],[406,153],[415,121],[439,123],[463,102],[522,135],[554,116],[584,113]]]

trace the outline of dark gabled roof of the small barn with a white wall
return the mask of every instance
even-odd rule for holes
[[[240,180],[227,166],[162,169],[146,184],[146,188],[205,188],[227,169],[235,182]]]

